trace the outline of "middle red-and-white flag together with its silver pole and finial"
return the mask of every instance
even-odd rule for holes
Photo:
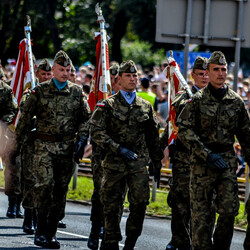
[[[95,33],[95,40],[97,41],[96,68],[88,99],[89,107],[92,111],[99,100],[106,99],[111,94],[108,39],[104,28],[104,18],[98,4],[96,5],[96,13],[100,23],[100,33]]]

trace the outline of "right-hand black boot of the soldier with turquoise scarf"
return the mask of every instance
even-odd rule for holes
[[[56,238],[56,231],[58,227],[58,221],[48,221],[48,229],[46,233],[46,242],[43,245],[45,248],[49,249],[59,249],[60,242]]]

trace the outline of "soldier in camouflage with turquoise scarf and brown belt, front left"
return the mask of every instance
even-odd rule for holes
[[[54,77],[31,91],[16,129],[20,147],[36,116],[34,204],[37,229],[34,243],[53,249],[60,248],[55,235],[65,213],[68,184],[74,172],[73,153],[75,149],[75,160],[83,155],[88,135],[85,123],[90,115],[85,94],[68,81],[70,67],[68,55],[59,51],[52,67]],[[78,139],[74,143],[76,134]]]

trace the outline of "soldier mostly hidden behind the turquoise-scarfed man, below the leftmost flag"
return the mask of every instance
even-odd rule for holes
[[[41,60],[36,68],[36,77],[38,78],[38,84],[52,78],[52,67],[47,58]],[[31,95],[31,89],[27,89],[20,102],[20,109],[22,111],[23,105],[27,98]],[[34,233],[34,224],[36,220],[34,210],[34,186],[35,177],[33,174],[33,159],[34,159],[34,137],[35,137],[35,123],[36,118],[32,118],[32,127],[30,132],[26,134],[26,137],[22,143],[21,149],[21,165],[22,165],[22,185],[23,185],[23,208],[24,208],[24,221],[23,231],[27,234]]]

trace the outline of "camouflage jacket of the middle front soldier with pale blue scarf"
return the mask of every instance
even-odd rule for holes
[[[129,105],[120,92],[97,105],[90,124],[92,140],[107,151],[104,167],[124,171],[126,167],[145,167],[151,160],[160,161],[158,121],[149,102],[139,96]],[[137,161],[122,160],[119,146],[138,155]]]

